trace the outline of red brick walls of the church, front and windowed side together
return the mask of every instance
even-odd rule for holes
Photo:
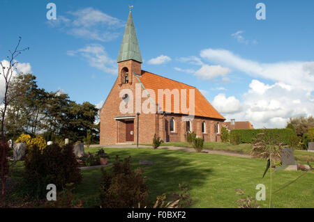
[[[121,70],[128,68],[129,83],[122,84]],[[135,114],[135,84],[137,81],[133,75],[141,73],[141,63],[137,61],[124,61],[119,63],[119,75],[117,77],[112,90],[110,91],[103,108],[100,110],[100,144],[115,144],[124,143],[126,141],[126,124],[124,120],[115,120],[117,116],[135,116],[134,119],[134,143],[137,142],[137,115]],[[122,89],[130,89],[133,92],[133,113],[123,114],[119,110],[121,97],[119,93]],[[141,87],[141,91],[143,88]],[[147,100],[142,98],[142,102]],[[142,105],[142,104],[141,104]],[[170,132],[170,118],[174,118],[175,132]],[[205,121],[206,133],[202,134],[201,122]],[[221,120],[213,120],[211,118],[195,117],[191,121],[192,131],[197,136],[203,137],[204,141],[220,141],[220,136],[214,132],[214,124],[220,123]],[[167,132],[165,124],[167,123]],[[140,113],[139,122],[139,143],[152,143],[154,134],[156,133],[163,141],[185,141],[184,133],[186,132],[186,122],[181,120],[181,115],[177,114],[155,114],[155,113]]]

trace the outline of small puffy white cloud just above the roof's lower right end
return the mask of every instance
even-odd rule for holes
[[[215,109],[220,113],[237,113],[241,111],[241,103],[236,97],[225,97],[224,93],[219,93],[212,102]]]

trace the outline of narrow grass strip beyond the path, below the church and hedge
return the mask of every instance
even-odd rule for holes
[[[142,145],[151,145],[151,144],[142,144]],[[182,148],[191,147],[187,142],[161,143],[160,146],[176,146],[176,147],[182,147]],[[204,149],[250,154],[251,144],[241,143],[239,145],[232,145],[231,143],[206,142],[204,143]],[[314,152],[307,152],[306,150],[294,150],[294,157],[297,161],[302,161],[306,163],[306,161],[309,160],[311,164],[314,164]]]

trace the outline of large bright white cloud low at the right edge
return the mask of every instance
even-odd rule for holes
[[[248,120],[255,128],[282,128],[290,117],[313,116],[314,96],[304,89],[290,89],[278,83],[267,85],[256,79],[251,81],[249,87],[242,95],[243,109],[232,114],[222,109],[225,118]]]

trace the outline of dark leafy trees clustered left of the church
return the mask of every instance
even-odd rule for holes
[[[98,109],[94,104],[77,104],[66,93],[40,89],[32,74],[15,77],[9,95],[14,97],[6,120],[6,131],[11,138],[20,134],[36,136],[39,131],[45,131],[47,141],[61,138],[83,141],[88,131],[92,137],[99,138],[99,125],[94,124]]]

